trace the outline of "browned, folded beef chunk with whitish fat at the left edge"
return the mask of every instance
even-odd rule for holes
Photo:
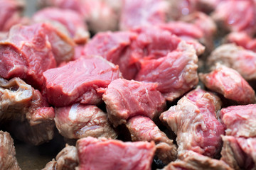
[[[19,78],[0,79],[0,120],[18,139],[39,145],[53,139],[54,110],[38,90]]]

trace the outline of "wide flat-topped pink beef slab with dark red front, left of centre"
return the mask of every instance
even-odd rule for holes
[[[80,102],[97,104],[102,101],[101,88],[122,77],[118,66],[102,57],[81,57],[63,67],[43,73],[48,102],[61,107]]]

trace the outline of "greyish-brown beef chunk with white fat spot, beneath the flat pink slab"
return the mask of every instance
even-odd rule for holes
[[[68,139],[82,137],[117,138],[104,113],[97,106],[75,103],[72,106],[55,108],[55,125],[60,135]]]

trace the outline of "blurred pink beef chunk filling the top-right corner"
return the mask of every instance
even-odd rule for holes
[[[256,7],[254,1],[221,1],[212,13],[221,30],[255,34]]]

